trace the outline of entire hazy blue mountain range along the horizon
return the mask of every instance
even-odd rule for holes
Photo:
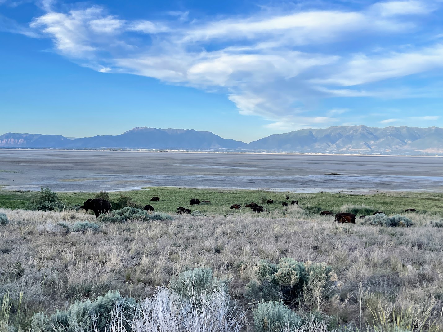
[[[243,143],[221,138],[210,131],[136,127],[120,135],[76,139],[7,133],[0,136],[0,147],[428,155],[443,153],[443,128],[338,126],[296,130]]]

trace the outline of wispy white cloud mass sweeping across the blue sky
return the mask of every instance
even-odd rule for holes
[[[367,85],[443,67],[443,44],[435,39],[404,50],[390,41],[370,49],[360,42],[371,36],[408,39],[420,19],[439,10],[433,1],[382,1],[360,10],[267,10],[205,20],[191,19],[189,12],[128,20],[101,6],[63,11],[51,0],[43,0],[42,8],[46,13],[27,29],[51,38],[56,52],[82,66],[218,90],[241,114],[261,116],[274,129],[342,121],[344,111],[318,111],[320,100],[398,97]],[[337,46],[345,42],[346,47]]]

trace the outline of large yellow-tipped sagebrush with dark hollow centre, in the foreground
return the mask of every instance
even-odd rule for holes
[[[339,290],[337,275],[326,263],[280,258],[278,264],[260,260],[255,278],[246,285],[245,297],[256,301],[280,301],[319,309]]]

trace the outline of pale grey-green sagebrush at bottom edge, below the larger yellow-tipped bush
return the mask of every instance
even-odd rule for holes
[[[301,318],[282,301],[260,302],[253,310],[254,332],[295,331]]]

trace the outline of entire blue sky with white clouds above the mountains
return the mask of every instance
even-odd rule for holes
[[[0,0],[0,133],[443,127],[443,0]]]

